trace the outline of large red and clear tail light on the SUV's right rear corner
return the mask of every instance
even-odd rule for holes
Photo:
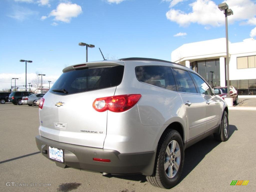
[[[123,112],[131,109],[141,98],[141,94],[116,95],[95,99],[93,108],[103,112],[110,110],[113,112]]]

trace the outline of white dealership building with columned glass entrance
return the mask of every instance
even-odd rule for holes
[[[226,86],[226,38],[184,44],[171,54],[172,62],[198,72],[212,87]],[[229,42],[230,85],[240,95],[256,94],[256,40]]]

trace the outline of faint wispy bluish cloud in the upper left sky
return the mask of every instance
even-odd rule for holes
[[[37,11],[32,11],[26,7],[16,6],[16,7],[13,7],[12,13],[7,16],[17,19],[19,21],[23,21],[23,20],[27,19],[29,16],[37,15],[37,14],[38,14]]]

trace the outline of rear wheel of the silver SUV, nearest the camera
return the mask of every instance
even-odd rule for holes
[[[170,189],[177,184],[183,165],[184,146],[182,138],[178,131],[170,129],[159,140],[154,174],[146,176],[146,179],[155,187]]]

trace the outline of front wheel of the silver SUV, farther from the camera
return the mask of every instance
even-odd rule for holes
[[[216,141],[227,141],[229,133],[228,124],[228,114],[226,111],[223,112],[221,123],[220,123],[220,133],[214,133],[214,138]]]

